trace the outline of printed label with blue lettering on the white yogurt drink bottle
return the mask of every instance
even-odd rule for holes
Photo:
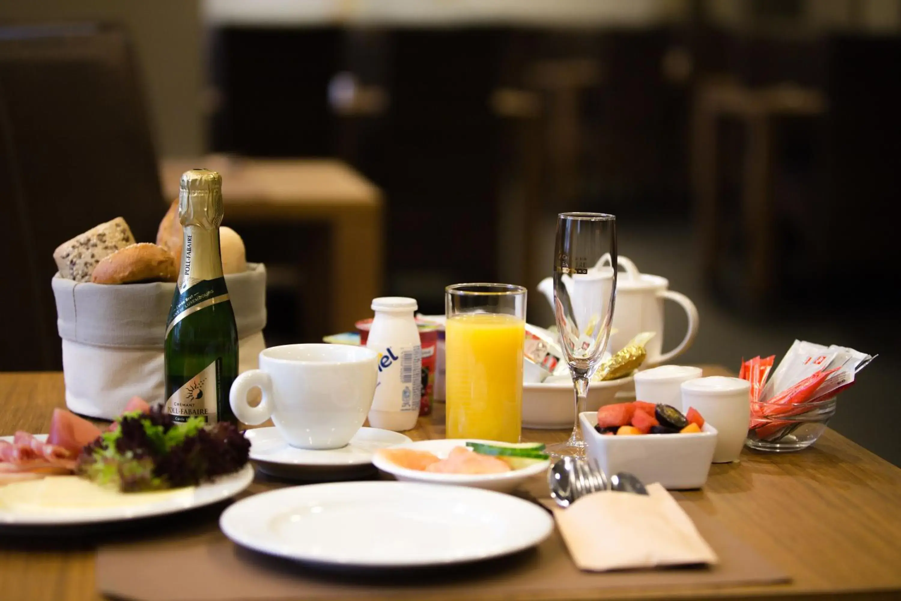
[[[423,347],[387,347],[378,353],[378,385],[372,408],[419,412],[423,396]]]

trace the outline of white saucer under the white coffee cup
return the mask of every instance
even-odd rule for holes
[[[340,449],[298,449],[289,445],[275,427],[244,432],[250,441],[250,460],[260,471],[280,478],[339,479],[372,471],[372,454],[396,444],[410,442],[401,433],[379,428],[360,428]]]

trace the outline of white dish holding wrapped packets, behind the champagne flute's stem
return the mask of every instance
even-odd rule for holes
[[[523,384],[523,428],[571,430],[576,420],[576,393],[572,380],[526,382]],[[607,382],[592,382],[588,387],[587,411],[616,402],[616,393],[633,387],[632,376]]]

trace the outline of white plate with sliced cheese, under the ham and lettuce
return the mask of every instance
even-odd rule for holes
[[[13,437],[0,440],[12,442]],[[235,496],[252,481],[248,464],[196,487],[150,493],[122,493],[77,476],[14,482],[0,487],[0,527],[103,524],[175,514]]]

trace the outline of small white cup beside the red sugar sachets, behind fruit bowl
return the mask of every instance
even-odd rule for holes
[[[711,376],[682,383],[683,413],[694,407],[716,428],[714,463],[738,460],[751,421],[751,383]]]

